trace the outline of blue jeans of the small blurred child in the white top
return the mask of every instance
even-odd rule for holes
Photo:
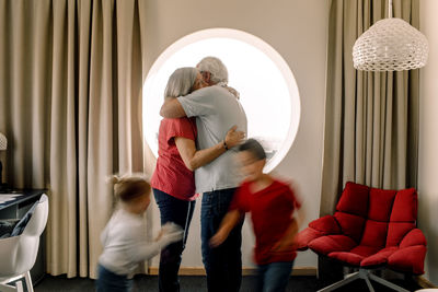
[[[114,273],[102,265],[97,266],[96,292],[130,292],[132,279]]]

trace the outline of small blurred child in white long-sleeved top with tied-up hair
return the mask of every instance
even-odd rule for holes
[[[139,176],[114,176],[112,183],[119,208],[101,234],[103,253],[99,258],[97,292],[131,291],[131,278],[138,264],[183,236],[181,227],[169,223],[154,242],[147,242],[142,214],[150,203],[149,183]]]

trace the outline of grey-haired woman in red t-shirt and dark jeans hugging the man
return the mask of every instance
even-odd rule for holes
[[[206,84],[196,68],[176,69],[169,78],[164,96],[178,97]],[[159,130],[159,157],[151,186],[160,209],[161,225],[174,222],[184,229],[184,238],[162,249],[159,269],[160,291],[180,291],[177,272],[187,241],[188,226],[195,208],[195,178],[193,171],[214,161],[244,137],[232,127],[218,144],[196,150],[195,118],[164,118]]]

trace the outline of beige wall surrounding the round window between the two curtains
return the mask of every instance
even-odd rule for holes
[[[196,31],[228,27],[253,34],[288,62],[301,95],[301,120],[295,143],[275,170],[300,189],[308,222],[319,217],[325,96],[328,1],[321,0],[147,0],[147,59],[150,68],[178,38]],[[199,233],[200,201],[192,221],[182,267],[203,267]],[[154,229],[159,213],[153,210]],[[251,266],[253,236],[244,229],[243,262]],[[157,258],[152,266],[158,266]],[[296,267],[316,267],[311,252],[300,253]]]

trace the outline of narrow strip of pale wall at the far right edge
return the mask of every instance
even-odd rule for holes
[[[426,278],[438,284],[438,1],[420,1],[420,31],[429,59],[420,69],[418,225],[427,237]]]

